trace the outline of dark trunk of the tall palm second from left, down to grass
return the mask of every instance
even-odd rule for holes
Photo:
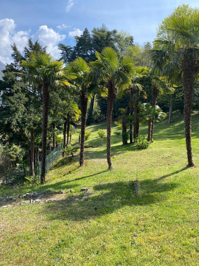
[[[86,127],[86,113],[88,105],[88,97],[85,93],[81,92],[81,144],[80,144],[80,166],[84,166],[84,140],[85,140],[85,127]]]

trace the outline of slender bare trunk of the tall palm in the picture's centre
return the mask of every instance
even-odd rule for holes
[[[113,111],[113,102],[115,96],[115,86],[113,82],[107,84],[108,88],[108,97],[107,97],[107,162],[108,170],[113,168],[111,162],[111,122],[112,122],[112,111]]]

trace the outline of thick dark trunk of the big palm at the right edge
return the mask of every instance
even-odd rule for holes
[[[187,147],[187,166],[195,166],[192,158],[192,146],[191,146],[191,103],[193,95],[193,82],[195,75],[194,64],[189,64],[186,61],[182,61],[183,71],[183,86],[184,86],[184,100],[185,100],[185,139]]]

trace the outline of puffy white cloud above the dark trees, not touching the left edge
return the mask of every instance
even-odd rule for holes
[[[55,30],[48,28],[47,25],[40,26],[39,30],[32,35],[32,39],[38,39],[42,46],[47,46],[47,53],[52,53],[55,58],[60,56],[57,43],[64,40],[65,37],[65,34],[60,34]]]

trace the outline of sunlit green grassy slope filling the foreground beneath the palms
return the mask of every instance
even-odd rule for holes
[[[193,154],[199,165],[199,116],[193,117]],[[60,201],[1,209],[0,265],[196,265],[198,261],[198,166],[187,164],[184,125],[155,124],[147,150],[123,146],[112,134],[113,171],[106,171],[106,147],[89,126],[85,167],[78,155],[61,159],[47,183],[23,191],[68,190],[67,197],[93,194],[82,201]],[[112,132],[118,128],[113,124]],[[147,133],[147,125],[141,127]],[[78,136],[76,136],[78,138]],[[73,137],[74,140],[74,137]],[[137,177],[140,194],[131,181]],[[1,194],[17,194],[10,189]]]

